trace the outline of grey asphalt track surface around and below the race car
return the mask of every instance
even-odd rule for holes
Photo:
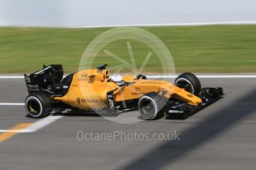
[[[36,132],[1,142],[0,169],[256,169],[256,78],[201,82],[222,86],[226,95],[186,120],[123,124],[94,115],[64,115]],[[0,79],[0,103],[22,103],[26,95],[22,79]],[[24,106],[0,106],[0,129],[38,121],[24,115]],[[80,141],[78,131],[176,131],[180,140]]]

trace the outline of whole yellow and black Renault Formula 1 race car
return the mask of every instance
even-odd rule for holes
[[[29,95],[25,109],[31,118],[51,114],[108,112],[118,115],[139,109],[140,118],[154,120],[187,118],[220,99],[223,89],[203,88],[190,72],[179,75],[174,84],[147,79],[145,75],[109,75],[108,65],[85,69],[63,77],[62,65],[44,66],[24,75]]]

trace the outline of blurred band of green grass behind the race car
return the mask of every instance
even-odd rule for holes
[[[76,71],[87,45],[109,29],[0,27],[0,73],[33,72],[42,64],[63,64],[65,72]],[[177,72],[256,72],[256,25],[143,29],[157,35],[168,47]],[[141,64],[148,47],[136,41],[131,41],[131,47],[137,64]],[[125,41],[114,41],[105,49],[128,57]],[[105,63],[118,61],[99,52],[93,65]],[[156,58],[151,58],[145,68],[145,72],[160,70]]]

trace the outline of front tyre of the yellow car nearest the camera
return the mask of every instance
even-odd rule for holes
[[[166,100],[155,92],[143,95],[138,101],[140,115],[145,120],[156,120],[164,115]]]

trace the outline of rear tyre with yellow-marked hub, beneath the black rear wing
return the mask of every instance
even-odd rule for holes
[[[45,93],[28,95],[25,100],[25,109],[30,118],[45,118],[52,110],[50,98]]]

